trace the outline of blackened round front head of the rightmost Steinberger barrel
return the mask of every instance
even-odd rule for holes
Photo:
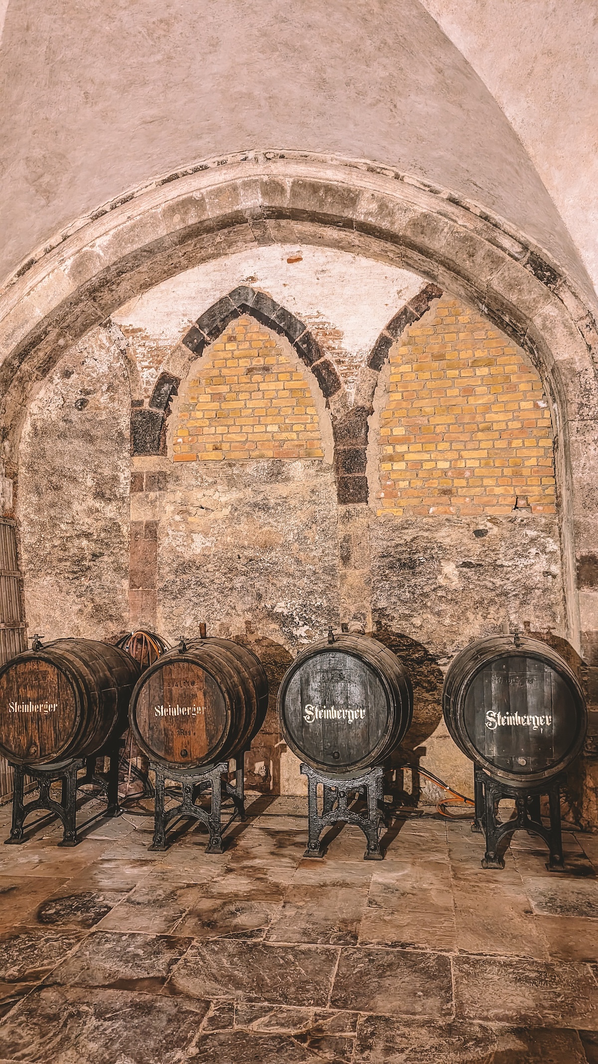
[[[463,722],[485,762],[518,777],[562,764],[579,731],[571,686],[548,662],[515,654],[476,674]]]

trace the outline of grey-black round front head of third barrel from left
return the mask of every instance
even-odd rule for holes
[[[281,692],[280,719],[294,753],[332,772],[372,763],[389,727],[375,670],[353,654],[323,650],[298,664]]]

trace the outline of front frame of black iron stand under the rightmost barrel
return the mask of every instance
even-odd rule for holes
[[[548,846],[550,857],[547,868],[550,871],[564,871],[561,836],[561,785],[564,777],[556,777],[544,784],[520,791],[492,779],[483,771],[481,776],[485,793],[485,854],[482,868],[503,868],[501,844],[508,845],[515,831],[528,831],[530,834],[540,835]],[[550,805],[550,828],[544,827],[541,816],[540,799],[545,794],[548,795]],[[497,816],[498,802],[501,798],[515,799],[515,816],[505,824],[501,824]]]

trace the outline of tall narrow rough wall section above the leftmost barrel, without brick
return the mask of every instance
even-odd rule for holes
[[[130,418],[126,369],[102,329],[31,403],[16,510],[30,635],[110,638],[129,626]]]

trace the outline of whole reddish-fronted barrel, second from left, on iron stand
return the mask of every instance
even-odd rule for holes
[[[142,674],[131,699],[137,745],[168,768],[200,768],[246,749],[268,709],[259,659],[230,639],[190,639]]]

